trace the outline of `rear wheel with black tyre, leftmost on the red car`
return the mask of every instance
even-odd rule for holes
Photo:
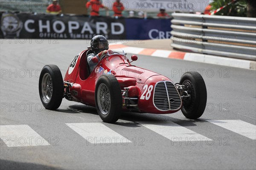
[[[45,65],[39,77],[39,95],[44,108],[57,109],[61,105],[63,94],[64,84],[60,69],[57,65]]]

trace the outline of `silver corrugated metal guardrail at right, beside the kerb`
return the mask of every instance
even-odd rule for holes
[[[256,18],[172,14],[174,48],[256,60]]]

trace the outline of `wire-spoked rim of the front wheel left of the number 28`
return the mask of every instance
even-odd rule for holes
[[[107,115],[111,108],[111,98],[108,87],[104,83],[100,84],[97,94],[99,110],[102,112],[102,114]]]

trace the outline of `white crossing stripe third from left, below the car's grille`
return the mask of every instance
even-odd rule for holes
[[[167,139],[170,139],[173,142],[212,141],[212,139],[209,139],[206,136],[203,136],[171,121],[138,123],[166,137]]]

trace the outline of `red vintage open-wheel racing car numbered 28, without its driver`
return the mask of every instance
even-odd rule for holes
[[[104,122],[116,122],[122,111],[168,114],[181,109],[197,119],[207,102],[204,79],[198,72],[186,72],[179,83],[132,65],[126,54],[105,54],[90,73],[87,49],[72,60],[64,80],[56,65],[45,65],[39,78],[39,94],[46,109],[55,110],[63,98],[94,106]]]

